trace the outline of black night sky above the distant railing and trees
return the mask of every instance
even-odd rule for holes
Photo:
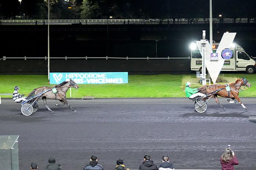
[[[76,1],[76,5],[82,5],[82,0],[70,0],[70,5]],[[91,3],[98,2],[100,8],[105,12],[116,4],[116,11],[129,13],[130,18],[143,18],[145,15],[150,18],[209,18],[210,0],[89,0]],[[256,18],[255,0],[212,0],[213,18],[221,14],[224,18]],[[63,7],[67,4],[64,0],[59,0],[53,8],[68,10]],[[1,15],[19,15],[20,2],[18,0],[0,0]],[[22,13],[26,15],[37,15],[39,8],[44,7],[43,0],[22,0]],[[62,8],[63,7],[63,8]],[[119,16],[121,17],[121,16]],[[63,18],[69,19],[69,18]],[[95,19],[95,18],[91,18]]]

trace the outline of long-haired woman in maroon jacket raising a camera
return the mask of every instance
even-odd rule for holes
[[[238,165],[236,155],[231,148],[226,148],[221,155],[221,170],[234,170],[234,165]]]

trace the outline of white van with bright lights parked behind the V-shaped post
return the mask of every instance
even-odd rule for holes
[[[218,46],[219,43],[213,43],[213,53],[216,52]],[[230,50],[233,52],[233,55],[230,59],[225,59],[221,71],[246,71],[248,74],[254,73],[256,68],[255,60],[241,46],[232,44]],[[202,72],[202,56],[197,47],[195,49],[191,48],[190,68],[192,71]]]

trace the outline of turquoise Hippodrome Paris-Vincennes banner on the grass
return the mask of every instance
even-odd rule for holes
[[[67,79],[77,84],[124,84],[128,83],[128,72],[50,73],[50,84],[60,84]]]

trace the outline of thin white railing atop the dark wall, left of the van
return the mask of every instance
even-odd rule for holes
[[[24,60],[29,60],[29,59],[45,59],[45,60],[48,60],[48,57],[45,56],[45,57],[6,57],[6,56],[3,56],[2,58],[0,58],[0,60],[6,60],[6,59],[24,59]],[[130,60],[130,59],[145,59],[145,60],[151,60],[151,59],[167,59],[167,60],[170,60],[170,59],[190,59],[190,57],[50,57],[50,59],[125,59],[125,60]]]

